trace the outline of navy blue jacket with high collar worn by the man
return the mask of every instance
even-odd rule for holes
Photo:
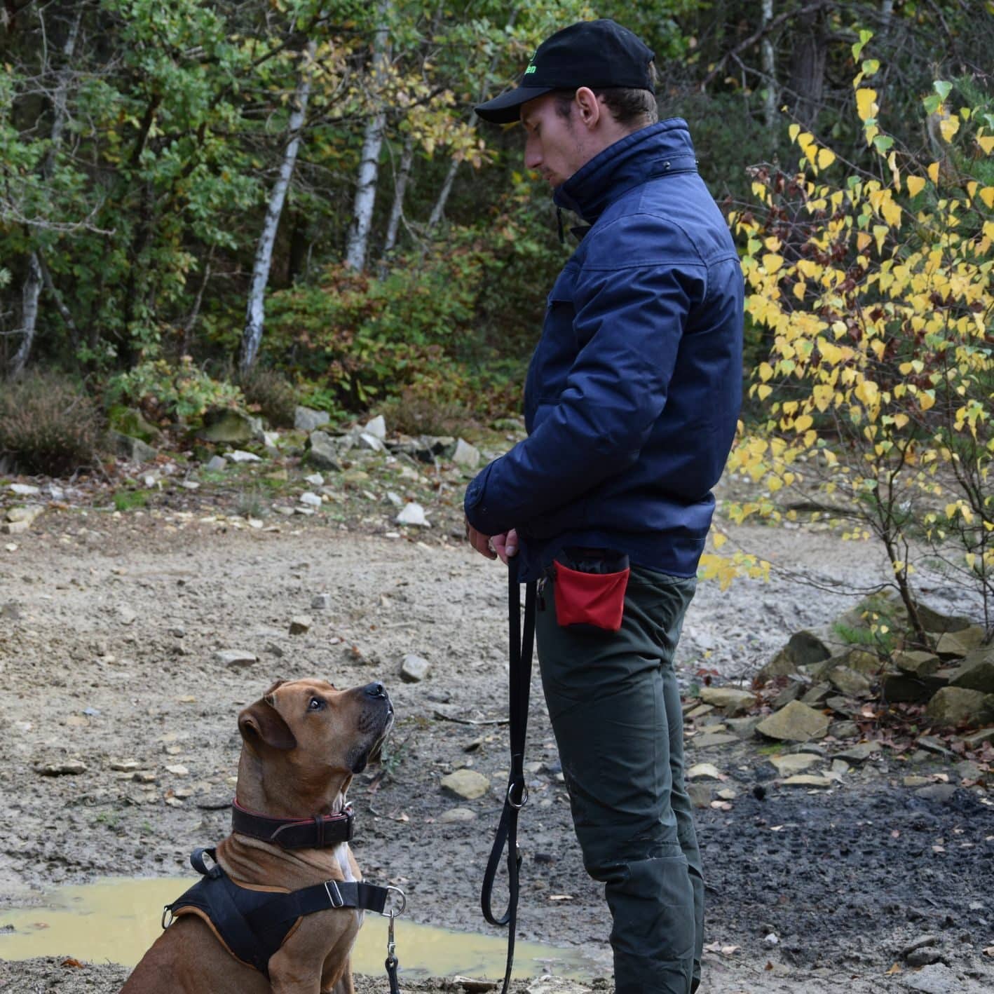
[[[528,437],[466,490],[470,524],[517,528],[522,580],[564,546],[691,577],[742,402],[743,275],[680,118],[587,162],[556,202],[590,227],[549,294]]]

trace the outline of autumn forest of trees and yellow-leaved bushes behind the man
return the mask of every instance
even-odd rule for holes
[[[0,455],[77,469],[135,408],[517,411],[574,242],[520,128],[472,106],[596,16],[654,49],[743,256],[732,467],[758,496],[733,516],[813,480],[787,514],[884,541],[912,628],[925,541],[994,630],[981,0],[5,0]]]

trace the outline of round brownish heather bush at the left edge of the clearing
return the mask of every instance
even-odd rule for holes
[[[31,373],[0,394],[0,451],[31,473],[62,475],[96,455],[100,415],[72,381]]]

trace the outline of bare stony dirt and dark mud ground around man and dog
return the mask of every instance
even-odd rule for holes
[[[358,528],[321,516],[245,527],[168,506],[123,516],[90,509],[47,513],[16,542],[0,542],[0,925],[3,909],[59,884],[184,872],[191,849],[227,834],[240,708],[278,677],[316,675],[340,687],[383,680],[395,702],[384,775],[357,778],[350,795],[367,879],[403,886],[416,921],[485,930],[478,889],[506,730],[465,723],[506,708],[504,574],[458,544],[454,512],[430,532],[396,538],[378,514],[370,521],[379,524]],[[730,534],[822,581],[855,589],[881,576],[869,547],[828,533]],[[325,608],[312,607],[319,593],[329,595]],[[948,591],[931,595],[950,606]],[[746,677],[792,631],[852,603],[779,575],[724,592],[702,584],[681,678],[690,690],[705,669]],[[310,627],[290,635],[296,615]],[[257,661],[227,665],[216,657],[227,649]],[[408,653],[430,663],[419,683],[400,678]],[[580,864],[537,678],[531,723],[520,934],[604,949],[608,915]],[[735,792],[728,810],[699,811],[710,947],[702,994],[994,989],[994,959],[983,951],[994,945],[994,806],[980,788],[923,797],[903,776],[955,786],[950,764],[919,756],[910,770],[885,752],[808,792],[779,783],[768,747],[698,748],[694,738],[689,762],[715,763]],[[843,747],[822,745],[826,764]],[[83,768],[40,772],[74,763]],[[460,801],[440,788],[465,765],[490,778],[486,796]],[[446,821],[456,807],[473,819]],[[570,900],[550,900],[563,895]],[[923,934],[939,956],[919,969],[903,950]],[[11,992],[110,992],[125,975],[58,958],[0,961],[0,989]],[[402,986],[456,989],[443,979]],[[611,989],[607,979],[589,986]],[[385,989],[382,977],[360,984],[362,994]]]

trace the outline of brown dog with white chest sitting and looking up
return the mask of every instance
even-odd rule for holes
[[[393,720],[382,684],[338,691],[323,680],[278,681],[239,715],[236,818],[241,809],[249,825],[340,825],[353,774],[376,756]],[[238,822],[217,847],[217,863],[250,898],[361,879],[348,842],[283,848],[243,834]],[[121,994],[354,994],[349,957],[362,917],[337,907],[298,917],[268,959],[266,979],[226,948],[207,914],[177,911]]]

